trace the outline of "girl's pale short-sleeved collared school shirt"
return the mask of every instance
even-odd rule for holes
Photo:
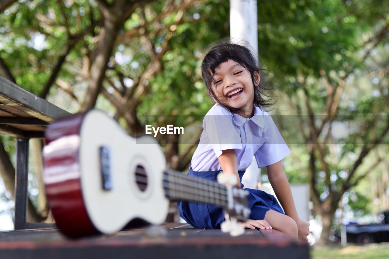
[[[258,168],[262,168],[291,153],[267,112],[254,106],[254,116],[246,119],[216,103],[204,117],[192,170],[221,170],[217,158],[226,149],[235,149],[238,170],[246,170],[253,155]]]

